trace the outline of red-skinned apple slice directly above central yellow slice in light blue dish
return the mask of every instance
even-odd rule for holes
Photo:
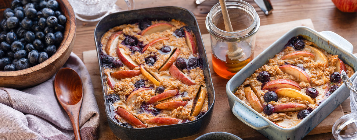
[[[292,88],[296,90],[301,90],[298,83],[288,79],[276,79],[270,81],[263,86],[262,90],[266,89],[269,91],[275,91],[280,88]]]

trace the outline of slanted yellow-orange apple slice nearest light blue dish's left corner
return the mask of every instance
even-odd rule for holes
[[[263,106],[262,106],[262,104],[260,104],[259,99],[258,99],[257,95],[254,94],[252,88],[245,87],[244,93],[246,95],[246,98],[247,98],[249,104],[252,106],[252,108],[255,111],[257,111],[258,113],[263,112]]]

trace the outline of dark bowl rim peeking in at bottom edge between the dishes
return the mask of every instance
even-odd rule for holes
[[[211,132],[211,133],[206,133],[195,140],[242,140],[236,135],[233,135],[231,133],[227,132]]]

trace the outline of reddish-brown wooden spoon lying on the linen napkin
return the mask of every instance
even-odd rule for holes
[[[56,97],[71,119],[76,140],[81,140],[79,111],[83,99],[82,81],[76,71],[62,68],[55,77]]]

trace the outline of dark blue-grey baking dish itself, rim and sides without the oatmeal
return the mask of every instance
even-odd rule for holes
[[[105,83],[104,69],[99,59],[99,52],[101,48],[100,40],[106,31],[110,28],[122,25],[133,24],[141,20],[170,20],[176,19],[184,22],[195,34],[197,41],[198,53],[200,54],[203,62],[203,73],[205,74],[205,81],[208,93],[209,108],[208,111],[200,118],[182,124],[156,126],[152,128],[129,128],[119,125],[116,119],[113,118],[115,114],[114,108],[111,108],[107,100],[107,85]],[[215,101],[215,91],[213,90],[212,78],[210,68],[208,66],[208,59],[206,50],[203,46],[203,41],[200,29],[197,24],[195,16],[188,10],[181,7],[166,6],[166,7],[153,7],[139,10],[117,12],[104,17],[98,22],[94,30],[94,39],[97,50],[97,57],[99,61],[100,77],[102,84],[102,91],[104,95],[105,112],[109,127],[112,132],[121,140],[165,140],[176,139],[190,135],[197,134],[200,130],[207,127],[212,117],[213,104]],[[94,83],[95,84],[95,83]],[[99,83],[98,83],[99,84]]]

